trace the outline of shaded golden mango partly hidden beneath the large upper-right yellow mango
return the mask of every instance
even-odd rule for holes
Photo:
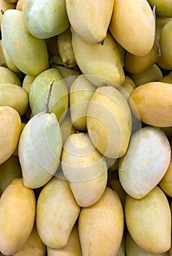
[[[132,53],[126,52],[125,54],[125,70],[138,74],[144,72],[157,61],[158,47],[155,42],[152,49],[145,56],[136,56]]]

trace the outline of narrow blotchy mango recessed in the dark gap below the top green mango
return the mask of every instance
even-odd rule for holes
[[[71,44],[71,30],[66,29],[58,35],[58,52],[65,67],[76,67],[77,62],[74,58],[74,50]]]

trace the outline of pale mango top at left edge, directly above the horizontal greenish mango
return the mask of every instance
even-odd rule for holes
[[[0,67],[0,83],[14,83],[21,86],[21,81],[15,74],[7,67]]]

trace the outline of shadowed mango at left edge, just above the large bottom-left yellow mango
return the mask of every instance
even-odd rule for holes
[[[0,165],[0,189],[1,192],[14,178],[21,177],[21,167],[17,156],[11,156]]]

